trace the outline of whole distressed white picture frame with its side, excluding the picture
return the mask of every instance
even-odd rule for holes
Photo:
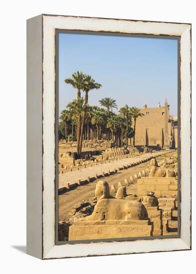
[[[180,39],[180,238],[55,244],[56,30]],[[27,20],[27,254],[39,259],[191,249],[191,24],[42,14]]]

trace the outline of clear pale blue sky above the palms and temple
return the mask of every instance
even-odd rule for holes
[[[111,97],[118,109],[164,105],[178,114],[178,41],[176,39],[92,34],[59,34],[59,112],[76,98],[64,83],[75,71],[90,74],[102,84],[89,92],[89,104]]]

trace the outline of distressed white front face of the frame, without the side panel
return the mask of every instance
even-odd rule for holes
[[[181,36],[181,238],[55,245],[55,29]],[[43,257],[191,249],[191,25],[43,15]],[[51,156],[52,155],[52,156]]]

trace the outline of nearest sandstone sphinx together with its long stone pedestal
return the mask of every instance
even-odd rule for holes
[[[69,241],[151,235],[152,226],[141,202],[114,198],[105,181],[96,184],[95,196],[92,215],[74,220],[69,227]]]

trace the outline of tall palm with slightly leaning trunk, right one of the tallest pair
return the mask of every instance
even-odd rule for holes
[[[83,91],[85,92],[84,96],[84,113],[83,113],[83,120],[82,120],[82,125],[81,125],[81,131],[80,131],[80,151],[79,154],[82,152],[82,139],[83,139],[83,130],[84,130],[84,124],[85,124],[85,119],[86,119],[86,112],[87,112],[87,107],[88,107],[88,93],[90,90],[93,89],[99,89],[101,87],[101,84],[96,83],[95,80],[90,76],[85,74],[85,81],[84,81],[84,87]]]

